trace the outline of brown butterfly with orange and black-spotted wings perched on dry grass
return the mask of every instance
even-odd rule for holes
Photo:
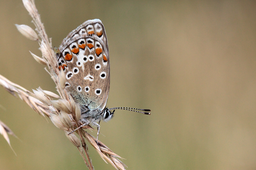
[[[88,20],[71,31],[54,51],[59,69],[62,68],[66,75],[65,88],[81,107],[80,121],[83,125],[78,128],[89,123],[96,125],[97,142],[100,121],[111,120],[115,109],[150,115],[149,109],[106,108],[110,87],[109,49],[105,29],[99,19]]]

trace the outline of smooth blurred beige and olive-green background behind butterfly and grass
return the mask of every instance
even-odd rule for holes
[[[109,43],[108,107],[99,140],[127,169],[256,168],[255,1],[36,1],[52,45],[98,18]],[[22,1],[0,1],[0,74],[32,91],[55,84],[14,24],[31,23]],[[87,169],[78,150],[19,98],[0,87],[0,169]],[[92,133],[94,136],[95,132]],[[88,143],[89,144],[89,143]],[[95,169],[114,169],[89,146]]]

